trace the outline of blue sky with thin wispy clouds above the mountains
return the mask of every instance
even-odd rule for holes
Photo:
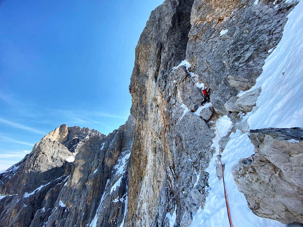
[[[0,170],[63,123],[125,123],[135,47],[162,2],[0,2]]]

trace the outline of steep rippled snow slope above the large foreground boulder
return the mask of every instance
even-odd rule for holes
[[[262,87],[250,129],[303,127],[303,2],[288,15],[283,36],[250,90]],[[284,72],[284,76],[282,75]]]

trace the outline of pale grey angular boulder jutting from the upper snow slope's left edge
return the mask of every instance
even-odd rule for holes
[[[261,92],[261,87],[258,89],[246,92],[236,101],[236,105],[239,106],[245,113],[250,112],[253,106],[256,105],[257,98]]]

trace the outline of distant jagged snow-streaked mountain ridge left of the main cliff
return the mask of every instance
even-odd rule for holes
[[[61,125],[43,137],[0,175],[0,225],[120,225],[134,126],[130,116],[108,136]]]

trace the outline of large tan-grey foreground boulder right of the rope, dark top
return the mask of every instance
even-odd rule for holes
[[[248,206],[260,217],[303,223],[303,128],[250,130],[255,154],[232,173]]]

